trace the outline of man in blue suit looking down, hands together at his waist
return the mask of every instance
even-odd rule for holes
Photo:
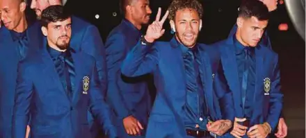
[[[236,33],[214,44],[233,92],[236,118],[230,134],[234,137],[267,137],[280,118],[283,94],[277,53],[259,44],[268,17],[261,1],[243,1]]]

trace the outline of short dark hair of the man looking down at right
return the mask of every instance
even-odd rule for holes
[[[243,0],[238,16],[245,19],[257,17],[259,21],[263,21],[269,19],[269,11],[266,5],[259,0]]]

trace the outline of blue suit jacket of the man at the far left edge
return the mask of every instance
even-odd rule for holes
[[[32,24],[26,30],[26,37],[29,44],[26,45],[26,52],[37,49],[39,24]],[[15,98],[15,85],[17,78],[17,64],[19,62],[18,42],[13,41],[10,31],[4,26],[0,28],[0,138],[11,137],[13,106]]]

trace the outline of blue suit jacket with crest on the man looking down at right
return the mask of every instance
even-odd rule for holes
[[[222,62],[225,78],[230,90],[233,92],[236,117],[243,118],[241,98],[241,84],[239,83],[238,68],[234,48],[233,36],[214,44],[220,49],[220,61]],[[275,130],[280,112],[282,110],[283,94],[280,92],[280,69],[278,67],[278,55],[268,46],[259,44],[255,50],[256,55],[256,84],[252,104],[252,117],[250,126],[268,122],[272,130]],[[270,79],[268,92],[265,92],[264,80]],[[266,88],[268,88],[266,87]]]

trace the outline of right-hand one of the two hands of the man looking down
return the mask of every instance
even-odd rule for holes
[[[268,123],[252,126],[247,134],[250,138],[266,138],[271,132],[271,127]]]

